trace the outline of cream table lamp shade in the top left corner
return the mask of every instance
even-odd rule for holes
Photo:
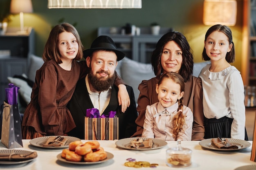
[[[11,0],[11,13],[31,13],[33,12],[31,0]]]

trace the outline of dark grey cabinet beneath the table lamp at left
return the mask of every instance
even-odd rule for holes
[[[5,99],[5,88],[8,87],[7,77],[27,74],[28,55],[34,53],[34,30],[29,29],[27,35],[17,35],[16,29],[8,29],[0,35],[0,102]]]

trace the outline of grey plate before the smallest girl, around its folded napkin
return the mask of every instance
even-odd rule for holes
[[[163,141],[161,139],[153,139],[153,148],[131,148],[131,141],[134,139],[149,139],[146,137],[130,137],[125,139],[120,139],[115,142],[116,146],[119,148],[129,149],[129,150],[153,150],[153,149],[159,149],[167,145],[166,141]]]

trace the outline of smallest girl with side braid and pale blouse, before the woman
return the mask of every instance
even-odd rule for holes
[[[168,72],[156,85],[159,102],[146,107],[141,137],[165,141],[191,141],[193,113],[183,106],[184,80],[178,73]]]

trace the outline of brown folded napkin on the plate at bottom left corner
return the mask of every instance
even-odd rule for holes
[[[17,153],[0,153],[0,161],[26,161],[37,157],[36,152],[31,152],[27,155]]]

